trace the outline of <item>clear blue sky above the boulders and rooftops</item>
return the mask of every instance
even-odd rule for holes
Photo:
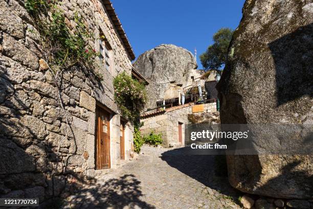
[[[174,44],[199,55],[221,27],[237,28],[244,0],[111,0],[136,54]]]

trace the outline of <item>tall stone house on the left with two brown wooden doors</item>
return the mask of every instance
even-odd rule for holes
[[[1,197],[41,202],[67,190],[69,179],[93,178],[133,157],[133,126],[114,101],[113,79],[124,71],[142,76],[132,68],[120,20],[108,0],[64,0],[60,7],[66,24],[74,27],[77,12],[93,30],[103,80],[79,68],[63,72],[62,109],[24,3],[0,2]]]

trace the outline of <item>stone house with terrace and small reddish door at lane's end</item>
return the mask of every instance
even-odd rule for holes
[[[143,126],[140,128],[142,135],[151,132],[162,134],[164,147],[180,147],[185,145],[185,125],[191,123],[190,116],[205,116],[215,118],[217,91],[215,89],[215,76],[217,71],[204,72],[203,70],[190,69],[186,82],[182,86],[172,85],[163,94],[163,99],[154,102],[157,108],[148,109],[141,115]],[[202,88],[202,103],[198,86]],[[210,87],[210,88],[207,88]],[[182,95],[185,102],[182,102]],[[209,97],[208,96],[211,96]],[[216,97],[214,97],[216,96]],[[219,115],[218,115],[219,117]]]

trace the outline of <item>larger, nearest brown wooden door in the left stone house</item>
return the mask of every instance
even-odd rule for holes
[[[110,168],[110,114],[102,109],[97,110],[97,169]]]

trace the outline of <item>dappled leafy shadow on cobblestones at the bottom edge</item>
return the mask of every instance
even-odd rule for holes
[[[140,181],[134,175],[98,182],[79,190],[64,202],[65,208],[155,208],[141,201]],[[90,189],[92,188],[92,189]]]

